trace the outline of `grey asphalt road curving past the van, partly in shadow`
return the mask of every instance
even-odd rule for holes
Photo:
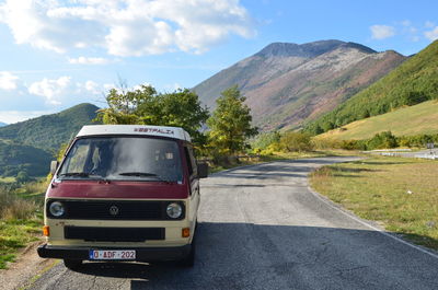
[[[438,289],[438,256],[382,234],[308,188],[341,158],[274,162],[201,183],[196,265],[60,263],[32,289]]]

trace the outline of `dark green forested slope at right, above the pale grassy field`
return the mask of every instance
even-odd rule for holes
[[[333,112],[307,126],[315,134],[402,106],[438,98],[438,40]],[[410,123],[410,119],[405,119]]]

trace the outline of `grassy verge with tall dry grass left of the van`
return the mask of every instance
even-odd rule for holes
[[[32,183],[18,189],[0,187],[0,269],[16,253],[41,236],[44,184]]]

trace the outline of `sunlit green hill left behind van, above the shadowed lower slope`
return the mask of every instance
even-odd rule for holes
[[[58,150],[83,125],[92,124],[99,107],[79,104],[57,114],[44,115],[0,128],[0,139],[13,140],[44,150]]]

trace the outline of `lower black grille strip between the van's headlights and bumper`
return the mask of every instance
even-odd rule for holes
[[[84,240],[91,242],[145,242],[148,240],[164,240],[164,228],[96,228],[65,227],[65,239]]]

